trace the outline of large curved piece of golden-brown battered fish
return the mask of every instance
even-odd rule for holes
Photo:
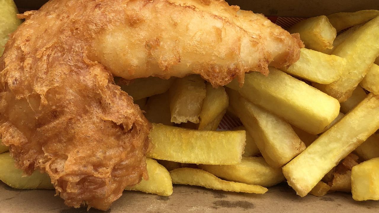
[[[149,122],[113,75],[214,86],[299,58],[298,36],[221,0],[51,0],[0,58],[0,134],[69,206],[107,209],[146,174]]]

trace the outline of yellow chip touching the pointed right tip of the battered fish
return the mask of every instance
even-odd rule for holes
[[[299,60],[280,70],[312,82],[329,84],[338,80],[345,68],[345,58],[302,48]]]

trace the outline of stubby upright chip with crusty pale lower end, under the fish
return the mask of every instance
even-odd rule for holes
[[[199,115],[206,95],[205,82],[199,75],[177,78],[169,94],[171,122],[199,123]]]

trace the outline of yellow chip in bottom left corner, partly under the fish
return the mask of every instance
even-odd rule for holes
[[[49,175],[36,170],[30,176],[24,176],[21,169],[14,167],[14,160],[9,153],[0,155],[0,180],[15,189],[53,189]]]

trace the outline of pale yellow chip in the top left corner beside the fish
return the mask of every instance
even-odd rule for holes
[[[8,34],[21,24],[21,20],[17,18],[17,7],[13,0],[2,0],[0,2],[0,56],[3,55],[4,45],[8,41]]]

